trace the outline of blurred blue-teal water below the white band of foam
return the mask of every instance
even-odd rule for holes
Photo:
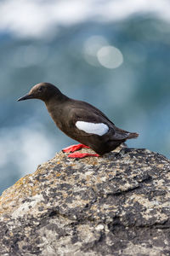
[[[50,82],[67,96],[90,102],[117,126],[139,132],[127,144],[170,157],[170,26],[149,15],[53,27],[53,37],[0,32],[0,192],[73,142],[37,100],[16,102],[31,86]],[[109,52],[99,62],[98,51]],[[119,58],[119,56],[117,56]],[[106,64],[105,64],[106,60]],[[118,65],[118,64],[117,64]]]

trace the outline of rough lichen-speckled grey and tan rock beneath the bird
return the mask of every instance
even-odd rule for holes
[[[3,192],[0,255],[170,255],[169,171],[147,149],[60,152]]]

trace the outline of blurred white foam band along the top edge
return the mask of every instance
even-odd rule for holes
[[[87,20],[123,20],[138,14],[156,15],[169,21],[169,0],[0,1],[0,31],[7,30],[23,38],[47,38],[47,35],[53,37],[62,26],[80,24]]]

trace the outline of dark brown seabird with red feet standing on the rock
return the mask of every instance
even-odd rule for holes
[[[68,157],[102,156],[127,139],[139,136],[136,132],[124,131],[116,127],[105,113],[88,102],[65,96],[54,84],[36,84],[17,101],[28,99],[39,99],[45,102],[55,125],[68,137],[80,143],[63,148],[63,152],[71,153]],[[95,154],[77,152],[80,148],[92,148]]]

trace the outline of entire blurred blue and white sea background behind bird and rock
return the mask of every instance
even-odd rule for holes
[[[169,0],[2,0],[0,17],[0,192],[75,143],[42,102],[16,102],[40,82],[170,156]]]

